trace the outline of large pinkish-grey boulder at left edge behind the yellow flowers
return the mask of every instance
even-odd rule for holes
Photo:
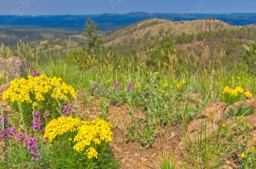
[[[33,67],[25,59],[18,57],[0,58],[0,72],[6,72],[8,80],[26,76],[32,70]]]

